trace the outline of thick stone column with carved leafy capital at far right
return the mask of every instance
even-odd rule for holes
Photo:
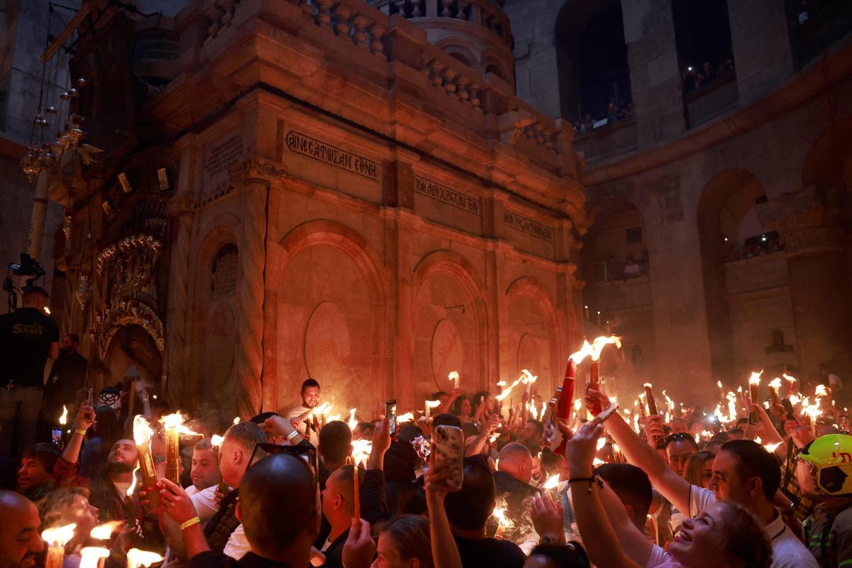
[[[843,258],[843,209],[831,192],[806,186],[758,209],[763,224],[780,234],[803,376],[816,377],[820,363],[849,376],[849,279]]]

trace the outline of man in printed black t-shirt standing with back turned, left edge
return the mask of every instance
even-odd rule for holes
[[[59,328],[44,314],[47,302],[46,290],[27,286],[22,306],[0,315],[0,456],[12,455],[13,431],[17,454],[36,441],[44,364],[59,357]]]

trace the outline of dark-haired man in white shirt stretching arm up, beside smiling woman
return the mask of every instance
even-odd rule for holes
[[[590,392],[590,396],[597,393]],[[601,402],[604,408],[609,404],[608,400]],[[774,456],[761,445],[751,440],[731,440],[722,445],[713,460],[713,477],[707,490],[678,476],[618,413],[605,426],[627,462],[648,473],[654,488],[676,508],[694,517],[717,499],[739,503],[763,525],[772,543],[772,568],[818,568],[814,556],[787,528],[772,504],[780,485],[780,469]],[[660,417],[649,416],[645,430],[649,438],[662,436]]]

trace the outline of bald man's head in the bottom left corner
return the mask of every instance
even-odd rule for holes
[[[0,491],[0,568],[36,565],[36,554],[44,548],[38,536],[38,509],[14,491]]]

